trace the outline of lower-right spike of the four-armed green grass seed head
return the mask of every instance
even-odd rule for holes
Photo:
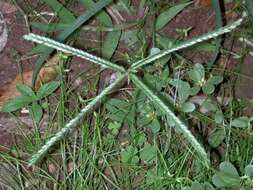
[[[181,121],[180,118],[178,118],[174,114],[174,112],[166,105],[166,103],[161,98],[159,98],[155,94],[155,92],[153,92],[146,84],[144,84],[135,74],[130,74],[130,78],[132,82],[140,90],[142,90],[151,101],[153,101],[162,111],[164,111],[166,114],[168,114],[169,117],[171,117],[174,120],[176,125],[180,128],[184,137],[191,143],[191,145],[198,152],[200,157],[203,158],[205,165],[209,166],[210,161],[208,159],[206,151],[200,145],[200,143],[196,140],[196,138],[192,135],[192,133],[189,131],[185,123]]]

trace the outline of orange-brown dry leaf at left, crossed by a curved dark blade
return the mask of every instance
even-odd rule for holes
[[[35,83],[35,90],[38,90],[41,84],[54,80],[58,76],[58,71],[59,71],[58,62],[59,62],[59,56],[55,55],[40,70],[39,77]],[[0,90],[0,107],[6,101],[20,95],[20,93],[16,89],[16,85],[18,83],[32,86],[31,81],[32,81],[32,71],[26,71],[26,72],[23,72],[22,74],[18,74],[12,82],[5,85]]]

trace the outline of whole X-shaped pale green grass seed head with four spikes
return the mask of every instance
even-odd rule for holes
[[[164,114],[166,114],[167,117],[169,117],[176,125],[176,127],[179,129],[179,131],[183,134],[185,139],[192,145],[192,147],[197,152],[198,156],[203,161],[204,165],[209,167],[210,161],[208,158],[208,155],[202,145],[196,140],[196,138],[192,135],[190,130],[188,129],[185,122],[178,117],[173,109],[171,108],[171,105],[169,105],[162,97],[160,97],[158,94],[159,92],[156,92],[153,90],[149,85],[147,85],[141,77],[138,76],[138,73],[142,70],[143,67],[145,67],[148,64],[151,64],[155,62],[156,60],[159,60],[163,58],[164,56],[171,54],[173,52],[179,51],[184,48],[188,48],[190,46],[193,46],[197,43],[215,38],[219,35],[222,35],[224,33],[228,33],[231,30],[235,29],[242,23],[243,19],[239,19],[235,22],[232,22],[231,24],[221,27],[215,31],[209,32],[207,34],[198,36],[196,38],[181,42],[179,44],[176,44],[172,46],[171,48],[167,48],[164,50],[161,50],[151,56],[148,56],[144,59],[138,60],[134,63],[130,64],[129,68],[124,68],[120,65],[117,65],[115,63],[112,63],[110,61],[104,60],[100,57],[94,56],[92,54],[89,54],[87,52],[84,52],[82,50],[70,47],[68,45],[65,45],[63,43],[57,42],[53,39],[46,38],[43,36],[39,36],[36,34],[28,34],[25,35],[24,38],[29,41],[33,41],[39,44],[43,44],[45,46],[48,46],[50,48],[59,50],[61,52],[71,54],[86,60],[89,60],[92,63],[95,63],[97,65],[100,65],[103,68],[108,68],[111,70],[114,70],[117,72],[117,79],[115,79],[111,84],[109,84],[108,87],[106,87],[104,90],[101,91],[99,95],[97,95],[92,101],[90,101],[87,106],[85,106],[83,109],[81,109],[80,113],[77,114],[72,120],[70,120],[64,128],[62,128],[59,132],[57,132],[52,138],[50,138],[45,145],[43,145],[37,153],[35,153],[32,158],[29,161],[29,165],[33,165],[37,163],[38,161],[42,160],[43,157],[48,153],[50,148],[58,143],[60,140],[65,139],[68,137],[68,134],[70,134],[82,121],[84,116],[89,113],[92,109],[95,108],[95,106],[103,100],[103,98],[108,95],[112,89],[117,87],[122,83],[123,80],[127,79],[128,81],[131,81],[138,89],[140,89],[151,102],[153,102],[159,110],[161,110]]]

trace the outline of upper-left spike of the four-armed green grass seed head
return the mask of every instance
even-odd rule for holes
[[[118,72],[125,72],[125,69],[119,65],[116,65],[110,61],[107,61],[107,60],[97,57],[95,55],[89,54],[89,53],[82,51],[80,49],[76,49],[71,46],[65,45],[63,43],[57,42],[57,41],[52,40],[47,37],[43,37],[43,36],[40,36],[37,34],[30,33],[28,35],[24,35],[24,39],[36,42],[38,44],[46,45],[48,47],[62,51],[64,53],[69,53],[69,54],[75,55],[77,57],[86,59],[90,62],[96,63],[104,68],[109,68],[109,69],[112,69],[112,70],[115,70]]]

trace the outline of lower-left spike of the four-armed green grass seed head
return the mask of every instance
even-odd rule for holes
[[[64,128],[62,128],[59,132],[57,132],[52,138],[50,138],[45,145],[43,145],[40,150],[32,156],[32,158],[29,160],[28,165],[31,166],[35,163],[37,163],[39,160],[43,159],[43,157],[46,155],[46,153],[49,151],[49,149],[55,145],[57,142],[62,140],[64,137],[66,137],[67,134],[69,134],[71,131],[73,131],[80,121],[83,119],[83,117],[91,111],[113,88],[115,88],[124,78],[126,77],[126,74],[120,75],[112,84],[110,84],[108,87],[106,87],[98,96],[96,96],[87,106],[85,106],[80,113],[70,120]]]

